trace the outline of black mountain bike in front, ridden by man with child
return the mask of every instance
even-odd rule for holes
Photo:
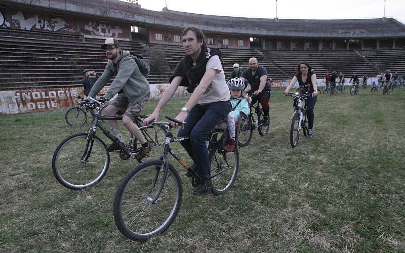
[[[173,117],[170,121],[185,125]],[[176,218],[182,201],[182,183],[178,172],[170,163],[171,154],[187,171],[192,172],[191,184],[196,187],[200,181],[196,172],[171,147],[173,142],[190,137],[173,138],[170,122],[152,122],[167,130],[163,155],[159,159],[138,164],[121,181],[114,198],[114,220],[117,228],[127,238],[146,241],[166,231]],[[238,129],[236,129],[236,142]],[[238,167],[238,146],[234,151],[223,150],[226,144],[226,122],[219,123],[207,138],[211,161],[211,191],[224,194],[234,184]]]

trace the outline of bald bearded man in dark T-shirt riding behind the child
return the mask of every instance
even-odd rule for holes
[[[249,59],[249,68],[247,68],[240,79],[245,83],[249,83],[250,90],[247,91],[248,96],[252,96],[252,103],[256,103],[257,99],[262,104],[264,112],[263,125],[269,124],[269,100],[270,100],[270,83],[267,80],[267,70],[265,67],[259,65],[256,58]]]

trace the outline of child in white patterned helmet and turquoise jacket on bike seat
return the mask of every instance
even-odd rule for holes
[[[231,78],[228,81],[229,92],[231,93],[231,112],[229,112],[227,117],[228,131],[229,131],[229,140],[224,150],[232,151],[235,148],[235,125],[239,121],[240,111],[244,112],[246,115],[249,114],[249,104],[242,93],[245,89],[245,82],[240,78]]]

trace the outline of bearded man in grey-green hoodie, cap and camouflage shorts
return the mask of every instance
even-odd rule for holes
[[[130,52],[121,50],[118,40],[107,38],[101,45],[101,49],[105,51],[108,63],[101,77],[94,83],[89,97],[95,98],[107,82],[116,75],[106,94],[101,98],[108,101],[115,94],[118,94],[105,108],[105,114],[107,116],[124,114],[124,125],[142,143],[142,150],[138,156],[139,159],[142,159],[150,151],[151,144],[143,137],[134,120],[140,114],[145,103],[149,101],[149,82],[139,70],[134,58],[130,56]],[[109,120],[109,122],[114,129],[115,136],[123,141],[123,137],[118,131],[118,122],[116,120]],[[117,149],[119,146],[115,143],[108,146],[109,151]]]

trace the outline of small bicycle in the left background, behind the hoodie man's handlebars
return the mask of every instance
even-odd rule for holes
[[[87,123],[87,118],[90,115],[94,118],[93,107],[92,103],[89,103],[84,98],[80,97],[79,95],[76,98],[80,101],[76,100],[76,106],[71,107],[69,110],[66,111],[65,120],[66,123],[70,126],[81,126]],[[105,107],[102,107],[104,109]]]

